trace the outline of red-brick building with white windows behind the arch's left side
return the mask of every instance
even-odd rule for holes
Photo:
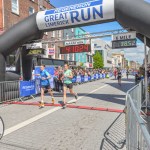
[[[5,32],[14,24],[25,19],[29,15],[38,11],[52,8],[54,8],[54,6],[50,4],[49,0],[0,0],[0,30],[1,32]],[[63,31],[48,32],[44,34],[43,39],[49,40],[52,37],[57,38],[58,33],[59,36],[63,35]],[[59,55],[59,46],[62,46],[62,44],[63,43],[43,44],[43,48],[47,50],[43,57],[50,57],[54,59],[63,58],[61,55]],[[55,54],[54,56],[49,56],[48,49],[52,47],[55,49]],[[8,61],[8,63],[11,64],[11,61]]]

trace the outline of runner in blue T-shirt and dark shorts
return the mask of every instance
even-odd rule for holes
[[[48,90],[50,96],[52,97],[52,103],[54,104],[54,96],[52,89],[50,87],[49,79],[51,78],[50,74],[45,70],[45,65],[41,65],[40,74],[36,74],[36,76],[40,76],[41,78],[41,102],[40,108],[44,108],[44,91]]]

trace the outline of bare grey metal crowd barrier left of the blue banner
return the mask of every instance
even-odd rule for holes
[[[20,81],[0,82],[0,102],[19,99],[19,82]]]

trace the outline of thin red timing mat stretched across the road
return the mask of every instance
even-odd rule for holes
[[[6,102],[5,104],[39,106],[39,102]],[[52,103],[45,103],[45,106],[62,107],[61,104],[52,104]],[[116,113],[123,113],[124,112],[124,110],[121,110],[121,109],[111,109],[111,108],[104,108],[104,107],[90,107],[90,106],[78,106],[76,104],[74,104],[74,105],[67,104],[66,107],[67,108],[76,108],[76,109],[86,109],[86,110],[116,112]]]

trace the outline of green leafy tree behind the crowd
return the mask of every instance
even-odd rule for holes
[[[98,51],[94,54],[93,61],[94,61],[94,64],[93,64],[94,69],[104,67],[103,57]]]

